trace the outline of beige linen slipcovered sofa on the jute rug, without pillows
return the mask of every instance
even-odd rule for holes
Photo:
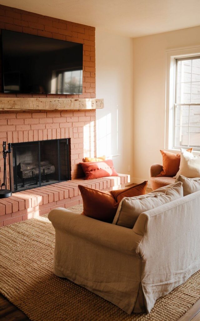
[[[141,213],[133,229],[54,209],[54,273],[128,314],[150,312],[200,269],[200,191]]]

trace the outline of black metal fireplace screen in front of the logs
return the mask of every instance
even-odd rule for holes
[[[14,143],[11,148],[13,192],[70,179],[69,139]]]

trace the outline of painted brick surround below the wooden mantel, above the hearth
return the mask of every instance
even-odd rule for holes
[[[70,138],[71,178],[83,176],[79,162],[96,152],[95,110],[0,112],[0,146]],[[3,147],[2,147],[3,149]],[[0,153],[0,181],[3,183],[3,155]],[[7,160],[8,163],[8,160]],[[9,171],[7,167],[9,182]]]

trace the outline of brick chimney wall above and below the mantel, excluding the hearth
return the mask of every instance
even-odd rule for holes
[[[0,5],[0,28],[83,44],[83,94],[4,94],[3,98],[95,98],[95,28]],[[0,69],[0,91],[2,73]],[[78,163],[96,152],[95,110],[0,111],[0,146],[70,138],[71,178],[82,175]],[[9,176],[7,176],[9,177]],[[3,160],[0,147],[0,182]]]

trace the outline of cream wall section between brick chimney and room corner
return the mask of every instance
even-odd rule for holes
[[[112,157],[118,173],[132,177],[133,42],[98,29],[95,40],[96,97],[104,98],[104,109],[96,111],[97,156]]]

